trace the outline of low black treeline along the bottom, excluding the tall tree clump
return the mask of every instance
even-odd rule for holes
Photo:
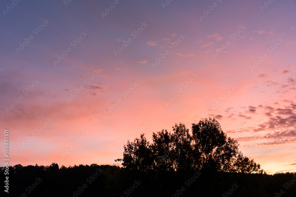
[[[4,167],[1,167],[4,170]],[[1,180],[4,180],[4,171]],[[282,193],[282,194],[281,194]],[[9,167],[12,197],[90,196],[241,196],[295,197],[296,174],[192,171],[141,172],[116,165]]]

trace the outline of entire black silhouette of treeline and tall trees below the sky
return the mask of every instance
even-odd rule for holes
[[[268,175],[243,156],[215,119],[153,133],[124,146],[118,165],[9,167],[5,196],[295,197],[295,172]],[[4,180],[4,167],[1,167]]]

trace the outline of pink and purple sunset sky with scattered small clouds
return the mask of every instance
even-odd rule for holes
[[[0,8],[10,165],[113,164],[140,133],[211,117],[267,173],[296,171],[296,1]]]

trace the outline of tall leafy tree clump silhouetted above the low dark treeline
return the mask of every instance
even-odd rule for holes
[[[184,124],[175,124],[173,133],[162,130],[152,135],[150,144],[140,139],[124,145],[123,158],[115,159],[129,169],[140,171],[192,171],[262,173],[260,165],[238,151],[236,140],[226,137],[218,121],[205,119],[192,123],[192,132]]]

